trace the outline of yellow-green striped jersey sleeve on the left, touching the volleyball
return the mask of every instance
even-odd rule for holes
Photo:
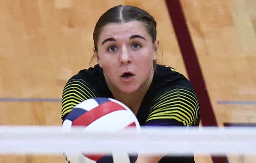
[[[84,100],[95,98],[95,91],[82,79],[70,79],[64,87],[61,98],[61,118]]]

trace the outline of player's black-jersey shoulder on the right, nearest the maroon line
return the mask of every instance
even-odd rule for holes
[[[199,103],[188,79],[174,68],[159,65],[154,82],[153,101],[147,122],[157,120],[169,125],[197,125]]]

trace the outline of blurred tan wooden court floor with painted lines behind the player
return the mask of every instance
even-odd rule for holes
[[[119,4],[154,16],[158,63],[191,79],[201,97],[202,126],[256,126],[255,0],[1,0],[0,125],[61,125],[64,85],[94,66],[96,61],[89,65],[94,26]],[[184,19],[175,21],[179,12]],[[187,27],[191,42],[178,40],[175,25]],[[182,50],[186,45],[191,53]],[[198,163],[255,161],[255,156],[196,155]],[[63,163],[64,158],[0,155],[0,162]]]

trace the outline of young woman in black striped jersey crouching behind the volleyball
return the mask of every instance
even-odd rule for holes
[[[62,119],[84,100],[111,97],[126,104],[141,126],[198,126],[199,104],[191,83],[175,69],[156,64],[156,22],[146,11],[115,6],[96,23],[99,64],[68,80]],[[194,162],[192,157],[142,156],[136,163]]]

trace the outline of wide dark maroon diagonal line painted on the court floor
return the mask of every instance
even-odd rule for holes
[[[184,59],[189,80],[193,84],[200,104],[200,120],[203,126],[217,126],[216,117],[211,106],[205,80],[198,62],[196,51],[186,25],[186,20],[179,0],[166,0],[170,18],[173,23],[179,48]],[[213,163],[228,163],[226,156],[214,157]]]

